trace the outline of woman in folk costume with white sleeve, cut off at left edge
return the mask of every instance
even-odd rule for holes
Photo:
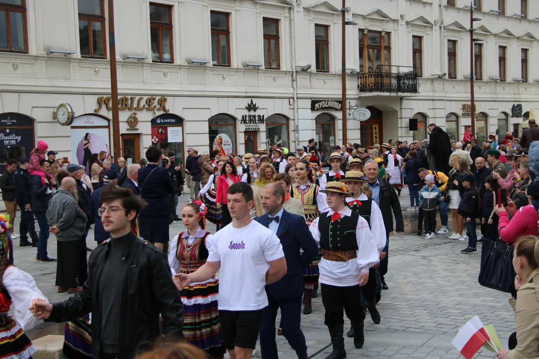
[[[9,218],[0,215],[0,358],[31,358],[36,349],[24,333],[43,323],[28,310],[35,298],[47,300],[30,274],[13,265]],[[15,320],[8,316],[13,304]]]

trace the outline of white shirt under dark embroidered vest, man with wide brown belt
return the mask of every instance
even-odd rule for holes
[[[335,212],[329,209],[328,217]],[[341,216],[350,216],[352,210],[344,207],[339,211]],[[320,247],[320,230],[317,218],[310,224],[309,230],[314,240]],[[328,230],[324,228],[323,230]],[[385,237],[384,237],[385,241]],[[322,257],[318,269],[320,272],[320,283],[334,285],[337,287],[348,287],[360,284],[360,273],[369,273],[369,269],[380,261],[376,241],[369,229],[369,224],[360,216],[356,226],[357,258],[347,262],[328,261]],[[385,243],[384,243],[385,245]],[[220,289],[220,288],[219,288]]]

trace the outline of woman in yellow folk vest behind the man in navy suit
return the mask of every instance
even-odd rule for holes
[[[320,192],[319,186],[314,184],[312,167],[310,167],[310,164],[306,160],[302,159],[296,163],[296,170],[298,181],[292,185],[290,192],[293,198],[303,203],[305,219],[307,224],[310,224],[320,216],[321,212],[327,212],[326,195]],[[319,277],[318,264],[321,258],[322,254],[320,253],[313,263],[307,267],[305,273],[303,273],[303,283],[305,283],[305,295],[303,297],[305,307],[303,308],[303,314],[313,312],[311,298],[312,296],[316,297]]]

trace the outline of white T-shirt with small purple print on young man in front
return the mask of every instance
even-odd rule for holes
[[[206,238],[208,262],[221,262],[219,309],[257,311],[268,305],[268,262],[285,256],[279,238],[257,221],[234,228],[232,223]]]

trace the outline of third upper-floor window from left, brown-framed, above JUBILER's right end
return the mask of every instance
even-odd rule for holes
[[[172,6],[150,3],[151,60],[174,62],[172,53]]]

